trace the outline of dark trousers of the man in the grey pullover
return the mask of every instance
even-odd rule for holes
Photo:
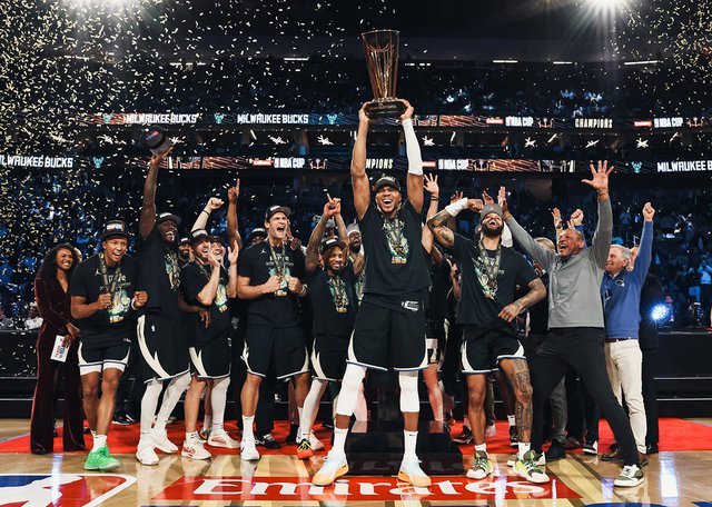
[[[546,341],[533,359],[532,387],[534,389],[534,417],[532,424],[532,448],[542,450],[544,406],[554,387],[566,371],[575,369],[605,414],[613,435],[621,446],[625,465],[639,463],[637,448],[623,407],[613,395],[605,369],[603,351],[604,332],[596,328],[550,329]]]

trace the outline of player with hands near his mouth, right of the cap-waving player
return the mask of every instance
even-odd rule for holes
[[[195,261],[180,274],[184,295],[189,304],[199,305],[210,311],[210,326],[205,327],[197,315],[187,316],[186,332],[190,345],[192,380],[186,395],[186,440],[181,456],[208,459],[208,453],[197,431],[200,395],[208,385],[206,402],[210,402],[212,420],[208,445],[235,449],[236,440],[224,429],[227,388],[230,384],[230,315],[228,298],[237,296],[237,242],[230,248],[229,275],[225,272],[212,248],[212,239],[205,229],[190,232]]]

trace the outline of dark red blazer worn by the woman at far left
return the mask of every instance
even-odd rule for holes
[[[52,277],[51,280],[34,279],[34,300],[42,317],[36,347],[51,349],[57,335],[67,334],[67,322],[71,321],[71,298]]]

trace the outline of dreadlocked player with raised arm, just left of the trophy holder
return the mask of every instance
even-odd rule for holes
[[[312,426],[316,419],[319,400],[329,382],[337,386],[332,392],[338,392],[338,382],[342,381],[346,369],[348,339],[354,330],[358,308],[355,286],[356,278],[364,269],[364,257],[359,255],[354,264],[346,264],[346,245],[336,238],[323,239],[326,225],[329,220],[338,221],[340,211],[339,200],[329,198],[307,246],[306,271],[312,275],[308,284],[314,334],[312,366],[315,375],[299,415],[299,459],[308,459],[313,455],[312,440],[315,437]],[[336,398],[333,405],[336,405]]]

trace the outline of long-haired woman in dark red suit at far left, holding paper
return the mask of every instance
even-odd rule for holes
[[[55,392],[63,379],[65,450],[85,450],[83,415],[81,411],[81,380],[79,377],[79,329],[70,321],[69,279],[78,262],[71,245],[52,248],[34,278],[34,298],[42,317],[37,338],[37,387],[30,419],[30,450],[32,454],[52,453],[55,429]],[[69,345],[67,362],[50,359],[56,337],[65,337]]]

